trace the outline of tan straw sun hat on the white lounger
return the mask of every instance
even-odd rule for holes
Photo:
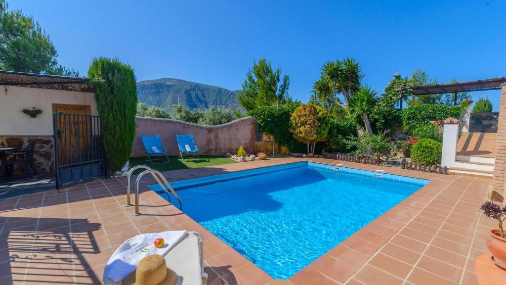
[[[178,274],[167,267],[162,256],[150,255],[139,262],[121,285],[175,285],[177,279]]]

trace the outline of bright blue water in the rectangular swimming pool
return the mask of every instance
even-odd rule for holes
[[[188,216],[273,278],[287,279],[427,183],[299,162],[171,185]]]

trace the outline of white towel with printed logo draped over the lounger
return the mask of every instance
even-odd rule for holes
[[[141,259],[153,254],[165,256],[185,234],[186,231],[167,231],[140,234],[127,239],[109,258],[104,268],[102,280],[105,282],[106,278],[112,281],[124,279],[126,275],[137,268]],[[156,248],[154,245],[155,239],[159,237],[165,240],[162,248]]]

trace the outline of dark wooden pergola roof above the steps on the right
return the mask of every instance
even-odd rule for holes
[[[501,84],[503,83],[506,83],[506,78],[497,77],[492,79],[476,80],[468,82],[418,85],[413,87],[413,89],[411,89],[411,92],[413,96],[453,93],[453,105],[456,105],[457,94],[460,92],[499,90],[501,89]],[[401,101],[401,108],[402,108],[402,101]]]

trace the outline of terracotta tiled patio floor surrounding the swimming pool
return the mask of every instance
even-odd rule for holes
[[[218,237],[146,188],[142,216],[125,207],[124,179],[96,180],[0,203],[0,284],[99,284],[112,252],[139,233],[193,230],[204,238],[208,284],[477,284],[495,221],[478,209],[491,180],[308,159],[427,178],[432,182],[287,281],[272,278]],[[301,161],[280,158],[165,173],[167,179],[213,175]],[[169,180],[170,181],[170,180]],[[374,201],[365,201],[374,206]],[[176,204],[176,206],[178,206]]]

